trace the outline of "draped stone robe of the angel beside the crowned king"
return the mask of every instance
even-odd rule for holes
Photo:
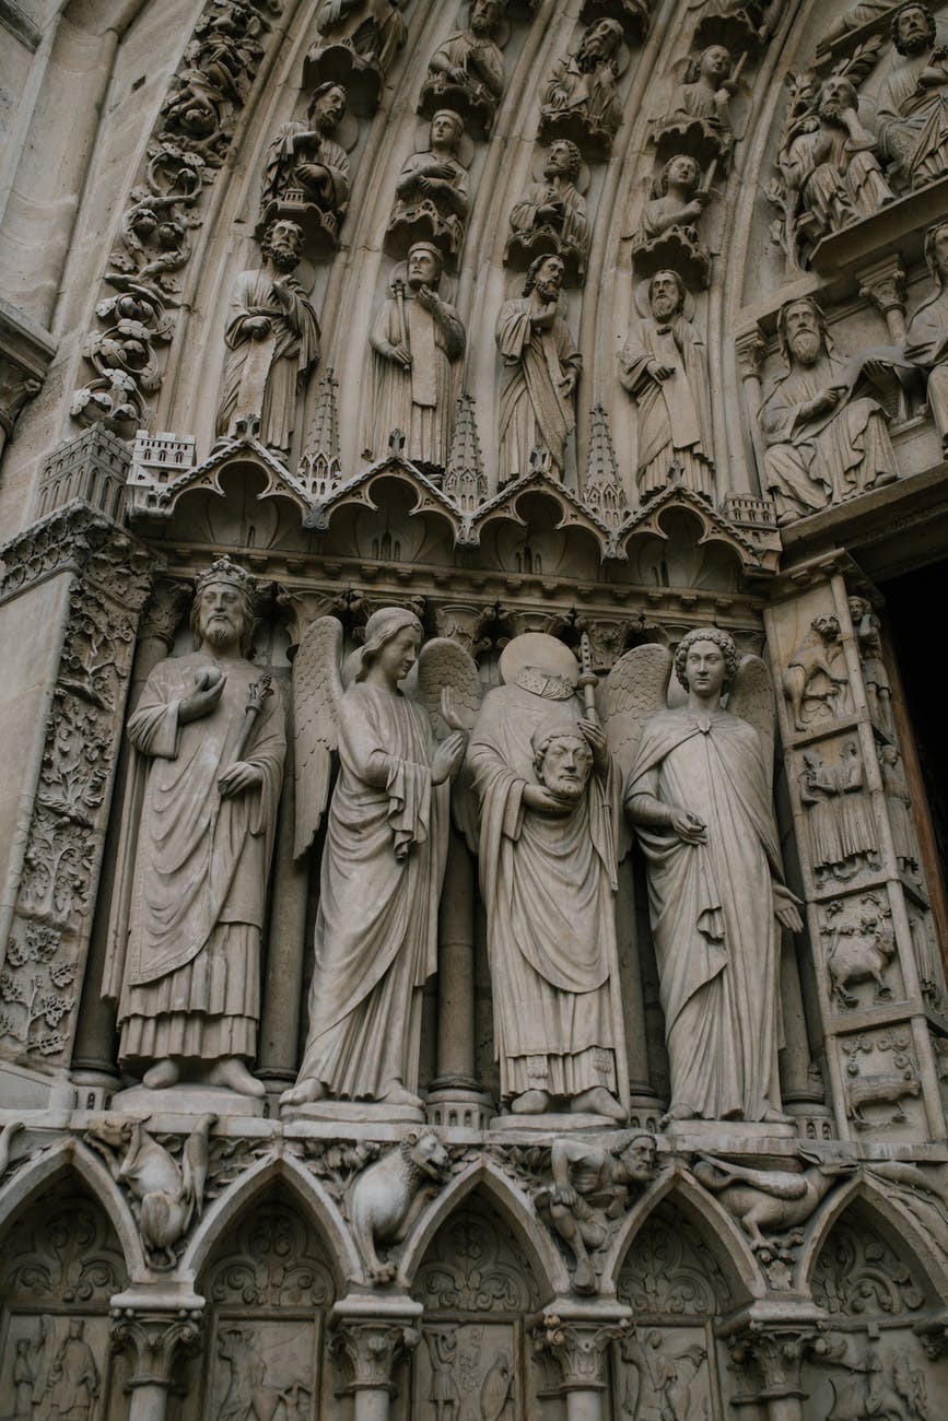
[[[449,786],[433,786],[428,715],[357,682],[340,708],[300,1080],[331,1096],[418,1086],[422,986],[438,962]]]

